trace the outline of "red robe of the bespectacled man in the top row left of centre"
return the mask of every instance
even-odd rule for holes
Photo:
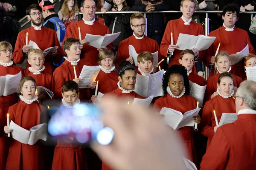
[[[101,36],[105,36],[105,34],[110,34],[108,27],[99,23],[98,21],[94,21],[93,25],[87,25],[84,23],[84,20],[81,20],[79,22],[76,22],[67,26],[64,40],[66,40],[67,37],[73,37],[73,38],[79,39],[79,31],[78,31],[79,26],[80,26],[82,40],[84,40],[86,34],[101,35]],[[114,51],[113,43],[110,43],[107,46],[107,48]],[[80,61],[78,65],[81,65],[81,67],[83,67],[83,65],[88,65],[88,66],[98,65],[98,54],[99,54],[99,51],[97,51],[97,48],[84,44],[84,47],[81,49]]]

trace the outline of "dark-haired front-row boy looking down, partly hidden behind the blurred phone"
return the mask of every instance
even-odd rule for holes
[[[74,105],[80,103],[79,88],[76,82],[68,80],[62,86],[62,105],[61,110],[72,113]],[[54,150],[52,170],[86,170],[86,156],[83,154],[81,144],[75,139],[58,139]]]

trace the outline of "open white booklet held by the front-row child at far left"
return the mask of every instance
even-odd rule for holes
[[[39,139],[46,141],[47,139],[47,124],[42,123],[31,127],[30,130],[26,130],[23,127],[15,124],[11,121],[10,129],[12,129],[12,138],[23,144],[35,144]]]

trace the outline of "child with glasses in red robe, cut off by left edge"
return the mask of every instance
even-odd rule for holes
[[[0,42],[0,76],[6,76],[7,74],[15,75],[21,71],[21,75],[23,77],[23,69],[13,65],[12,52],[12,45],[9,42]],[[2,112],[0,112],[0,124],[3,127],[7,125],[6,120],[9,107],[17,102],[17,93],[10,94],[8,96],[0,96],[0,109],[2,110]],[[3,128],[1,128],[0,131],[0,133],[3,133]],[[0,170],[5,168],[8,150],[9,139],[7,136],[3,136],[0,138]]]

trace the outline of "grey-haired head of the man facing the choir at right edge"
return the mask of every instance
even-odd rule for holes
[[[237,96],[244,98],[244,103],[249,108],[256,110],[256,82],[246,80],[241,82],[237,91]]]

